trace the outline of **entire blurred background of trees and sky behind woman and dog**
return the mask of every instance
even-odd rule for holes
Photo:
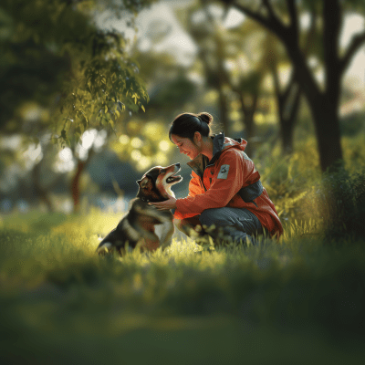
[[[1,214],[123,212],[175,162],[183,197],[169,125],[208,111],[292,216],[308,176],[363,165],[364,16],[362,0],[3,0]]]

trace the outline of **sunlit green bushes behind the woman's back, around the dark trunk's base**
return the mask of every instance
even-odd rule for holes
[[[345,168],[322,175],[313,138],[297,142],[297,151],[282,157],[268,144],[255,157],[257,170],[282,222],[311,225],[306,234],[327,242],[364,237],[364,137],[343,138]],[[268,149],[268,150],[267,150]]]

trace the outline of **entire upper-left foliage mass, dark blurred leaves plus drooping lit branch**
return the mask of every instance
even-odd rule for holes
[[[94,12],[110,1],[5,0],[0,5],[0,128],[36,136],[54,130],[53,141],[77,142],[87,128],[115,129],[126,108],[145,110],[148,95],[139,66],[116,31],[95,25]],[[151,1],[113,3],[124,16]],[[113,8],[114,8],[113,7]],[[128,13],[129,12],[129,13]],[[30,126],[19,109],[26,103],[51,118]],[[23,113],[24,114],[24,113]],[[41,124],[41,125],[39,125]],[[43,125],[42,125],[43,124]]]

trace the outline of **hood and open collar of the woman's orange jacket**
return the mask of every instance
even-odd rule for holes
[[[230,148],[236,148],[245,151],[245,146],[247,141],[242,138],[233,139],[229,137],[224,137],[224,133],[215,134],[212,136],[213,139],[213,158],[208,161],[208,158],[202,153],[198,154],[191,162],[187,162],[187,165],[192,168],[194,172],[200,177],[203,177],[203,172],[205,167],[208,165],[213,165],[223,151]]]

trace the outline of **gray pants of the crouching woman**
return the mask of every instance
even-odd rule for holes
[[[176,221],[175,224],[185,235],[197,224],[205,224],[208,227],[214,224],[216,227],[222,227],[224,235],[230,235],[234,242],[246,242],[249,238],[255,243],[257,235],[264,234],[264,228],[255,214],[245,208],[213,208],[206,209],[200,215],[192,218]]]

